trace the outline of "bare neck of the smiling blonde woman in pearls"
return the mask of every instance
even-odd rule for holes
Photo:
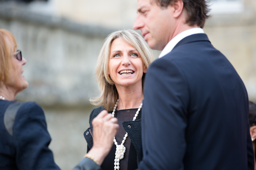
[[[119,101],[117,110],[139,108],[144,98],[142,85],[140,87],[116,87]]]

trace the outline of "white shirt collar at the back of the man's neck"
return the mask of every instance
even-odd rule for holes
[[[161,58],[172,51],[172,49],[182,40],[183,38],[193,35],[193,34],[200,34],[204,33],[203,29],[201,28],[191,28],[189,30],[183,31],[180,34],[176,35],[172,38],[169,43],[163,48],[162,52],[160,53],[158,58]]]

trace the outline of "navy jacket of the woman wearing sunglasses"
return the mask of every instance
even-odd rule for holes
[[[33,102],[19,102],[17,114],[8,122],[10,128],[4,113],[13,102],[0,100],[0,170],[60,170],[48,148],[51,137],[43,109]],[[93,160],[85,158],[73,170],[99,169]]]

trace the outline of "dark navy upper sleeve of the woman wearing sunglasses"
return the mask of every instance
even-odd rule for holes
[[[20,106],[13,133],[19,170],[60,170],[48,148],[51,137],[43,109],[38,104],[27,102]]]

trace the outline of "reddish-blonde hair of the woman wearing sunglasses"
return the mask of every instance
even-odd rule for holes
[[[10,43],[6,42],[8,40]],[[13,34],[7,30],[0,29],[0,81],[4,78],[4,83],[8,80],[8,72],[11,69],[10,57],[12,45],[15,49],[17,48]]]

